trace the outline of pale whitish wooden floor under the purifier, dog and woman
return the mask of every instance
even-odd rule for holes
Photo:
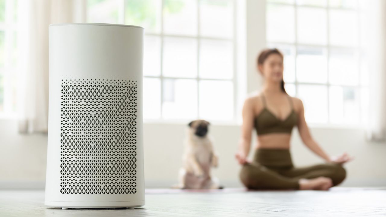
[[[43,203],[43,191],[2,190],[0,216],[386,216],[386,187],[333,187],[328,191],[146,189],[146,205],[131,210],[61,210]]]

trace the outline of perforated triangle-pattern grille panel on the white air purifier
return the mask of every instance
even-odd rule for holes
[[[136,193],[137,81],[61,81],[63,194]]]

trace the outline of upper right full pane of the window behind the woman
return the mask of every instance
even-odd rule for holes
[[[349,10],[330,10],[330,43],[338,46],[357,46],[358,16]]]

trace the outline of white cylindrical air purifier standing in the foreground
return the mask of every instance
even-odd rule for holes
[[[142,64],[144,28],[49,26],[49,207],[145,204]]]

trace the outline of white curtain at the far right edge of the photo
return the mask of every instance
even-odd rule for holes
[[[386,142],[386,1],[365,1],[363,36],[369,71],[369,120],[366,139]]]

